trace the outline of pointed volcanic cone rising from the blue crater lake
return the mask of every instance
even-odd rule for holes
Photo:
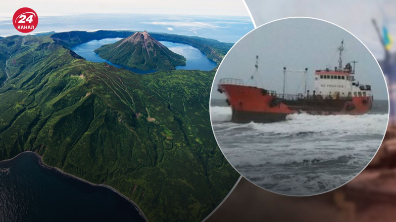
[[[185,66],[186,58],[176,54],[152,38],[146,31],[95,50],[103,59],[141,70],[174,70]]]

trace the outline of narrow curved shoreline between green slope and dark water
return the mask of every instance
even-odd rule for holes
[[[94,184],[94,183],[89,182],[89,181],[87,181],[87,180],[84,180],[84,179],[82,179],[82,178],[76,177],[76,176],[74,176],[74,175],[72,175],[72,174],[63,172],[61,169],[59,169],[59,168],[57,168],[57,167],[49,166],[49,165],[47,165],[47,164],[43,161],[43,157],[40,156],[39,154],[37,154],[37,153],[34,152],[34,151],[25,150],[25,151],[23,151],[23,152],[18,153],[18,155],[12,157],[11,159],[4,159],[4,160],[1,160],[0,162],[3,162],[3,161],[4,161],[4,162],[11,161],[12,159],[16,158],[17,156],[21,155],[21,154],[24,153],[24,152],[32,152],[32,153],[34,153],[37,157],[39,157],[39,159],[40,159],[40,160],[39,160],[39,163],[40,163],[40,165],[42,165],[43,167],[46,167],[46,168],[51,169],[51,170],[56,170],[56,171],[60,172],[60,173],[63,174],[63,175],[72,177],[72,178],[74,178],[74,179],[77,179],[77,180],[79,180],[79,181],[81,181],[81,182],[84,182],[84,183],[87,183],[87,184],[90,184],[90,185],[93,185],[93,186],[103,186],[103,187],[106,187],[106,188],[108,188],[108,189],[111,189],[113,192],[116,192],[118,195],[122,196],[124,199],[128,200],[132,205],[134,205],[135,208],[136,208],[136,210],[138,210],[139,214],[142,216],[142,218],[143,218],[146,222],[148,222],[148,220],[147,220],[145,214],[144,214],[143,211],[139,208],[139,206],[138,206],[135,202],[133,202],[131,199],[129,199],[127,196],[125,196],[124,194],[122,194],[121,192],[119,192],[118,190],[116,190],[114,187],[111,187],[111,186],[105,185],[105,184]]]

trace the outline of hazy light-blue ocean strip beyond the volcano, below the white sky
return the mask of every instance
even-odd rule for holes
[[[223,42],[237,42],[253,30],[248,16],[189,16],[154,14],[75,14],[40,16],[32,32],[67,32],[97,30],[148,31],[186,36],[213,38]],[[122,19],[120,19],[122,18]],[[24,35],[12,25],[12,16],[0,17],[0,36]]]

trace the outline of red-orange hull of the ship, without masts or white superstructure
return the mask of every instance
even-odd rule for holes
[[[288,114],[308,113],[313,115],[364,114],[372,108],[371,96],[343,99],[302,95],[279,95],[274,91],[253,86],[220,84],[218,91],[224,93],[232,108],[232,122],[278,122]]]

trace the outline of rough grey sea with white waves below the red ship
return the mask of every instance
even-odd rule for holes
[[[313,195],[369,163],[387,128],[388,101],[364,115],[292,114],[276,123],[232,123],[231,109],[213,103],[210,112],[221,150],[243,176],[276,193]]]

